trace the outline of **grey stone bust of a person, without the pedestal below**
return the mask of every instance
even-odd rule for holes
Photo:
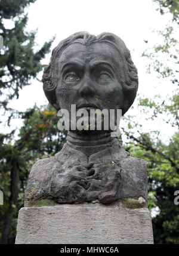
[[[56,110],[121,109],[134,102],[137,69],[118,36],[75,33],[54,48],[42,78],[44,92]],[[25,206],[50,203],[112,203],[143,198],[147,203],[146,161],[122,149],[110,129],[69,129],[63,149],[33,165]],[[43,203],[42,203],[43,205]]]

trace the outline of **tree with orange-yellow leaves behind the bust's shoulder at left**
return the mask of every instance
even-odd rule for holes
[[[21,118],[24,124],[14,144],[11,137],[0,135],[0,184],[5,195],[4,208],[0,211],[0,223],[4,226],[0,230],[1,243],[14,243],[18,210],[23,207],[32,165],[59,152],[66,140],[66,134],[57,129],[57,113],[51,106],[35,106],[26,110]]]

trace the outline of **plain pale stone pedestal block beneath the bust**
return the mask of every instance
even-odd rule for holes
[[[21,208],[16,243],[153,243],[149,209],[119,203]]]

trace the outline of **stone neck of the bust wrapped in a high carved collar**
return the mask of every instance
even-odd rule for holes
[[[106,149],[115,137],[110,136],[110,132],[103,134],[81,134],[69,131],[67,134],[67,144],[73,149],[83,152],[88,157],[100,150]]]

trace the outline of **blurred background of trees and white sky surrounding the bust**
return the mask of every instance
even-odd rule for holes
[[[1,243],[15,241],[32,165],[66,141],[42,70],[58,42],[79,31],[115,33],[131,51],[139,88],[119,141],[147,161],[155,243],[179,243],[178,13],[178,0],[0,1]]]

